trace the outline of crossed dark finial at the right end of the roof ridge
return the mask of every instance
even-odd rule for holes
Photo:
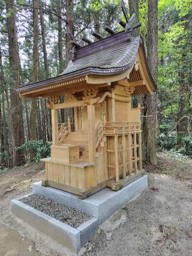
[[[130,19],[128,19],[128,11],[125,7],[124,0],[121,0],[121,9],[122,12],[124,13],[124,17],[127,23],[123,22],[121,19],[118,19],[118,23],[125,28],[125,32],[131,32],[133,31],[134,28],[138,28],[139,26],[142,25],[142,23],[137,23],[136,25],[133,26],[133,22],[136,20],[136,14],[134,13]]]

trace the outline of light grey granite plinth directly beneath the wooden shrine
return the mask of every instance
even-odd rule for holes
[[[147,187],[148,178],[147,175],[143,175],[118,191],[106,187],[84,200],[80,200],[77,195],[53,187],[43,187],[41,181],[32,184],[32,192],[94,216],[100,225]]]

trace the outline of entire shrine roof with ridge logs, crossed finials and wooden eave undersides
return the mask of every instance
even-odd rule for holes
[[[123,0],[121,0],[121,8],[126,23],[121,19],[118,22],[124,31],[116,33],[106,26],[104,29],[110,34],[108,37],[104,38],[92,31],[97,41],[92,42],[89,38],[82,37],[81,41],[77,42],[69,29],[67,32],[71,37],[73,50],[71,50],[71,61],[64,72],[53,78],[17,88],[16,91],[20,93],[20,97],[45,97],[52,93],[60,95],[67,93],[71,88],[86,87],[89,84],[110,84],[125,78],[127,82],[137,81],[137,85],[143,88],[140,94],[156,91],[157,86],[148,68],[142,38],[133,36],[133,29],[141,24],[133,25],[135,14],[128,19]],[[82,42],[87,44],[83,46]],[[133,67],[136,62],[140,71],[129,79],[131,72],[134,72]]]

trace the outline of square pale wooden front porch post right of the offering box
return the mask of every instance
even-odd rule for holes
[[[88,105],[88,147],[89,161],[95,162],[96,144],[95,144],[95,106]]]

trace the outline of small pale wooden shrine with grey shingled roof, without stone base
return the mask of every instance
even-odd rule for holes
[[[113,190],[143,175],[140,106],[131,107],[131,96],[152,94],[156,85],[148,69],[141,37],[131,32],[134,15],[116,33],[98,40],[82,38],[73,44],[72,59],[61,75],[17,89],[20,97],[46,97],[52,112],[51,156],[44,186],[80,198],[108,186]],[[70,31],[69,31],[70,32]],[[82,46],[86,42],[86,46]],[[59,97],[65,94],[64,103]],[[73,108],[74,121],[58,123],[59,109]]]

